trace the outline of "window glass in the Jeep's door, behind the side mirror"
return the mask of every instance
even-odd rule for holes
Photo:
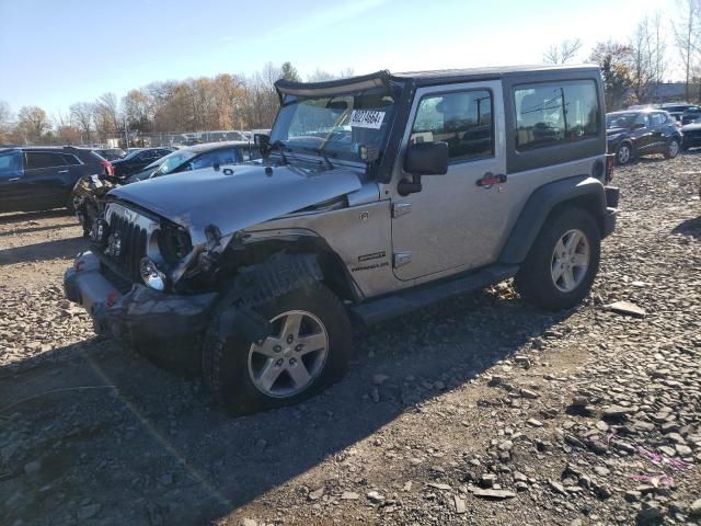
[[[493,157],[492,93],[474,90],[424,96],[409,141],[448,142],[450,161]]]

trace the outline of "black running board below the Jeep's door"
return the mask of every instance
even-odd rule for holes
[[[392,296],[369,300],[350,308],[350,312],[360,318],[366,325],[372,325],[402,316],[416,309],[427,307],[441,299],[452,298],[471,293],[489,285],[513,277],[518,265],[492,265],[481,271],[400,291]]]

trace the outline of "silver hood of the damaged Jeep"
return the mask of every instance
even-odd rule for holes
[[[110,196],[187,228],[193,244],[200,244],[206,242],[209,225],[226,236],[361,186],[359,174],[346,168],[319,172],[283,165],[267,170],[261,164],[221,167],[218,171],[206,168],[128,184]]]

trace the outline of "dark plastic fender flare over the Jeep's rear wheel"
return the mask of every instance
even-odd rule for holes
[[[521,209],[499,254],[499,262],[520,264],[536,241],[548,218],[564,207],[576,206],[587,210],[604,232],[606,191],[598,179],[576,175],[538,187]]]

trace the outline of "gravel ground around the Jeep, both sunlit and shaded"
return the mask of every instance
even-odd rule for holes
[[[700,175],[694,153],[618,169],[579,308],[508,284],[445,301],[358,335],[325,393],[240,419],[94,338],[60,289],[73,218],[0,216],[0,524],[700,522]]]

